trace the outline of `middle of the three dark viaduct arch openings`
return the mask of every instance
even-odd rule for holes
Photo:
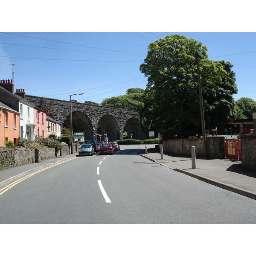
[[[109,142],[120,140],[120,125],[114,116],[110,114],[102,115],[99,118],[98,125],[102,140],[105,140],[104,134],[107,134]]]

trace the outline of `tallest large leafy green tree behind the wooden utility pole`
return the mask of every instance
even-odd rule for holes
[[[169,35],[149,44],[145,62],[140,71],[148,78],[141,111],[148,126],[162,132],[164,137],[189,137],[201,134],[200,100],[195,52],[200,56],[201,84],[207,125],[215,126],[211,113],[225,106],[230,113],[236,86],[220,87],[229,76],[229,64],[207,58],[207,48],[192,38]],[[222,89],[221,89],[222,88]],[[229,91],[230,90],[230,91]],[[225,92],[224,92],[225,91]],[[228,92],[227,97],[223,97]],[[221,104],[217,104],[221,102]],[[230,103],[231,102],[231,103]],[[215,110],[215,111],[213,111]],[[212,112],[213,111],[213,112]],[[227,116],[216,117],[219,121]],[[224,120],[223,120],[224,119]]]

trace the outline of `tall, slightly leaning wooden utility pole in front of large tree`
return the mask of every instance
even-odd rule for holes
[[[207,157],[205,122],[204,122],[203,93],[202,93],[202,85],[201,85],[201,74],[200,74],[199,53],[198,52],[195,53],[195,61],[196,61],[197,73],[198,73],[198,88],[199,88],[200,109],[201,109],[201,125],[202,125],[202,133],[203,133],[204,156]]]

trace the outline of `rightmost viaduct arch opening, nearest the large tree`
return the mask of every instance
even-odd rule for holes
[[[144,140],[145,138],[145,134],[141,128],[140,119],[136,117],[130,118],[126,121],[124,130],[127,131],[128,139],[131,139],[131,134],[132,139],[134,140]]]

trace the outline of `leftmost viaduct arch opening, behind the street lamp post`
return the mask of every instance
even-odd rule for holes
[[[93,125],[89,117],[81,111],[72,111],[73,132],[84,132],[85,140],[94,139]],[[64,127],[70,125],[70,114],[66,116]]]

